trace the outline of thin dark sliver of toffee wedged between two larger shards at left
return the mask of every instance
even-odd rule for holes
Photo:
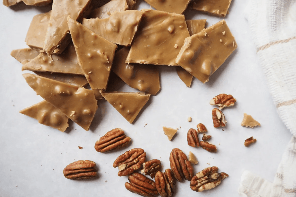
[[[83,75],[54,73],[54,72],[36,72],[36,71],[35,71],[35,74],[41,77],[46,77],[52,80],[57,80],[57,81],[75,85],[78,87],[84,87],[88,84],[88,81]]]

